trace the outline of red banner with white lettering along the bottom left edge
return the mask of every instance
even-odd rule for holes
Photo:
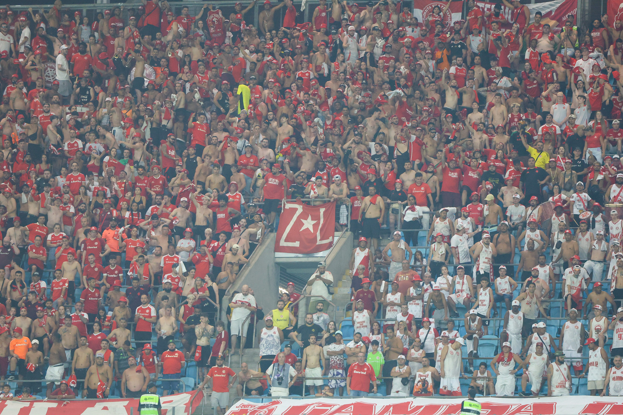
[[[203,393],[197,391],[164,396],[160,398],[162,415],[191,415],[201,399]],[[0,401],[2,415],[130,415],[130,410],[138,414],[137,409],[138,399]]]

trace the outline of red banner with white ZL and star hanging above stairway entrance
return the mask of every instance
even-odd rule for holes
[[[285,202],[279,218],[275,252],[315,254],[331,248],[335,202],[310,206]]]

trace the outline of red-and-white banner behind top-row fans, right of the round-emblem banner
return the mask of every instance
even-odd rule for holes
[[[477,0],[476,6],[480,7],[483,14],[487,14],[488,12],[493,11],[493,6],[495,6],[495,2],[491,3]],[[576,14],[578,13],[578,0],[554,0],[545,3],[526,4],[526,6],[528,6],[528,9],[530,9],[531,22],[533,22],[535,19],[535,13],[541,12],[541,14],[543,15],[543,17],[541,18],[541,24],[549,24],[552,31],[556,33],[560,32],[560,30],[562,29],[562,24],[564,21],[566,21],[569,14],[573,14],[573,16],[576,16]],[[610,2],[608,3],[608,7],[610,7]],[[502,25],[502,29],[510,29],[513,24],[513,20],[511,19],[511,9],[504,6],[504,4],[502,3],[501,13],[502,16],[506,17],[506,20],[509,21],[508,24]]]

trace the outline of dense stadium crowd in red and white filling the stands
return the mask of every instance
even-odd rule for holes
[[[234,384],[621,395],[621,21],[469,0],[450,24],[450,1],[418,21],[320,0],[304,22],[265,0],[259,27],[255,1],[1,8],[0,379],[136,397],[195,361],[220,414]],[[315,301],[297,324],[294,284],[264,316],[242,286],[220,320],[284,198],[353,231],[350,322]],[[308,287],[333,282],[321,263]],[[262,317],[260,371],[235,373]]]

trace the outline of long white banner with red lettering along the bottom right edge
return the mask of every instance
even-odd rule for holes
[[[239,401],[226,415],[445,415],[460,413],[466,398],[402,399],[275,399],[267,403]],[[482,415],[621,415],[621,397],[558,396],[544,398],[477,398]]]

